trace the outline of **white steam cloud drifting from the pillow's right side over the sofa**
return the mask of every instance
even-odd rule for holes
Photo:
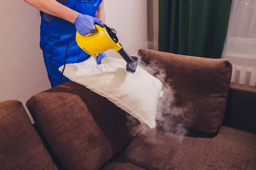
[[[157,132],[164,132],[164,135],[172,136],[177,141],[182,141],[183,137],[188,133],[188,127],[192,122],[192,118],[188,114],[191,105],[187,104],[185,107],[177,106],[172,80],[166,77],[165,68],[157,64],[156,61],[152,59],[150,63],[146,64],[140,58],[138,65],[163,83],[163,97],[160,97],[157,105],[157,125],[154,129],[144,129],[142,135],[145,135],[145,140],[150,143],[156,141],[154,138],[157,137]],[[134,122],[129,120],[128,124],[129,128],[131,128]]]

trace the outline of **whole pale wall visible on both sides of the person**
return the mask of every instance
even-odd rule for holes
[[[39,11],[22,0],[1,0],[0,101],[26,104],[34,94],[50,88],[39,48]],[[105,0],[106,24],[115,28],[130,55],[147,47],[147,1]],[[107,51],[108,57],[119,57]],[[25,107],[26,108],[26,107]]]

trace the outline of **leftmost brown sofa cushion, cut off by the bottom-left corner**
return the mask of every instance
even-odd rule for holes
[[[57,170],[21,102],[0,102],[0,169]]]

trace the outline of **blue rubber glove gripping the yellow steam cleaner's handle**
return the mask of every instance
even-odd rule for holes
[[[76,30],[81,35],[87,35],[95,29],[95,24],[103,26],[102,20],[99,18],[91,17],[90,15],[79,14],[76,18],[74,25]]]

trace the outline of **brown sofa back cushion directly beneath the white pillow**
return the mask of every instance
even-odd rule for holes
[[[32,96],[26,105],[70,170],[99,169],[145,127],[108,99],[71,81]],[[129,120],[137,129],[126,126]]]

